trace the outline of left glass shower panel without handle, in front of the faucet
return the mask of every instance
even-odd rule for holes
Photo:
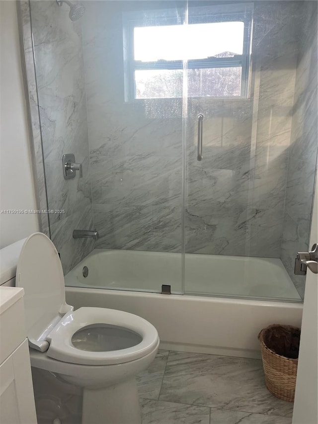
[[[185,3],[82,3],[76,20],[65,2],[25,3],[47,203],[62,210],[52,241],[65,274],[82,261],[70,285],[180,294],[183,56],[171,34]],[[82,174],[65,179],[70,153]],[[98,240],[72,237],[94,229]]]

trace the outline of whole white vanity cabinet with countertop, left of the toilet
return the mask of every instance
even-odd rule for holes
[[[0,287],[0,424],[36,424],[23,289]]]

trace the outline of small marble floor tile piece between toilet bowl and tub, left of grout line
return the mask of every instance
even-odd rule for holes
[[[168,350],[159,350],[154,362],[137,376],[137,387],[140,398],[159,398],[168,353]]]

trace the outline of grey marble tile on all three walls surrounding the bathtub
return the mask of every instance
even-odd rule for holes
[[[72,22],[66,6],[30,2],[36,65],[30,94],[40,106],[43,138],[37,158],[43,167],[43,154],[49,208],[66,210],[50,216],[64,271],[93,248],[91,240],[72,239],[75,228],[96,227],[97,248],[181,252],[185,147],[186,252],[282,257],[292,276],[313,190],[308,186],[295,202],[302,169],[314,177],[317,105],[315,115],[306,84],[315,88],[317,70],[306,66],[315,58],[305,34],[315,2],[255,2],[249,98],[190,99],[185,126],[181,99],[124,101],[122,12],[167,2],[84,3],[84,16]],[[202,162],[198,113],[205,115]],[[61,157],[71,152],[83,178],[67,181]]]

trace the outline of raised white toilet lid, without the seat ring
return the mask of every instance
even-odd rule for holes
[[[16,268],[16,287],[24,288],[26,332],[31,347],[49,348],[47,334],[72,311],[65,302],[64,275],[59,254],[43,233],[26,239]]]

